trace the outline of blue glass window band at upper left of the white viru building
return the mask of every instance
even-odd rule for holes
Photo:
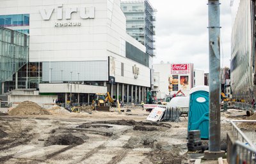
[[[29,14],[0,15],[0,26],[29,34],[29,27],[24,29],[24,26],[29,26]],[[19,27],[22,28],[19,29]]]

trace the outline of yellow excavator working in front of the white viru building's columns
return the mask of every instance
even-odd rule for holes
[[[110,107],[116,107],[115,101],[111,98],[108,93],[96,93],[92,101],[93,110],[109,112]]]

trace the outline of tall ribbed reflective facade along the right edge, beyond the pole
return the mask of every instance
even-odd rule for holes
[[[254,71],[254,43],[253,41],[253,1],[241,1],[236,11],[232,27],[231,42],[231,87],[232,97],[252,101],[253,71]],[[254,26],[255,27],[255,26]]]

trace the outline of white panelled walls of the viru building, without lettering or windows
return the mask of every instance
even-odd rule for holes
[[[57,19],[57,8],[59,4],[63,4],[62,20]],[[85,7],[87,10],[88,7],[91,6],[95,9],[94,19],[81,19],[81,8]],[[43,20],[40,10],[47,11],[51,8],[54,8],[51,18],[49,20]],[[65,18],[68,8],[77,8],[77,12],[72,13],[70,20]],[[120,9],[120,0],[1,1],[0,15],[22,13],[30,14],[30,62],[108,62],[108,56],[113,56],[116,59],[116,82],[150,87],[150,68],[125,57],[125,41],[128,41],[143,52],[145,52],[146,48],[134,38],[126,34],[125,16]],[[55,23],[60,22],[79,22],[81,23],[81,26],[55,27]],[[121,62],[124,63],[124,77],[120,75]],[[140,75],[138,75],[138,78],[134,78],[134,74],[132,73],[132,66],[135,64],[140,69]],[[47,71],[43,72],[43,74],[47,72],[47,75],[45,75],[46,81],[54,76],[55,71],[52,70],[51,73],[51,68],[45,68]],[[61,69],[58,70],[59,76],[61,73],[60,71]],[[70,68],[66,73],[70,73],[70,71],[72,71],[72,68]],[[92,70],[88,71],[93,72]],[[106,79],[106,76],[108,77],[109,72],[106,70],[102,72],[104,72],[104,80],[108,80]],[[76,73],[77,71],[74,70],[73,75],[75,76]],[[82,79],[82,73],[83,71],[80,73],[79,80],[86,80]],[[99,74],[99,72],[97,73]],[[65,74],[63,72],[63,78],[64,75]],[[69,74],[67,77],[69,77]],[[72,80],[77,80],[77,78],[73,77]]]

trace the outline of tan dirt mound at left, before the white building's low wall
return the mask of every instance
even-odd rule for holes
[[[10,112],[8,112],[9,115],[19,115],[19,116],[26,116],[26,115],[47,115],[51,114],[44,108],[40,107],[37,103],[34,103],[32,101],[23,101],[22,103],[19,103],[19,105]]]

